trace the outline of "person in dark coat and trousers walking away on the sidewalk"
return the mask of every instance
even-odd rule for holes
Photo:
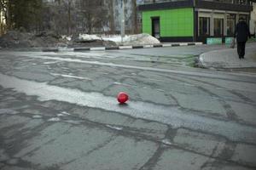
[[[237,42],[237,54],[239,59],[244,59],[245,45],[247,38],[251,37],[249,27],[243,18],[239,18],[239,22],[236,24],[235,36]]]

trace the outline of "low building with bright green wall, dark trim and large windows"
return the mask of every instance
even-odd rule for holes
[[[225,42],[234,37],[240,17],[249,24],[252,10],[249,0],[165,0],[139,6],[143,33],[161,42]]]

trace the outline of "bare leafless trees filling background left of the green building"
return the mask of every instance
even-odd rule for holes
[[[135,33],[137,1],[130,0],[127,6],[127,23]],[[55,31],[69,35],[76,32],[114,33],[119,25],[119,1],[113,0],[0,0],[0,11],[5,23],[4,26],[3,21],[0,23],[0,33],[20,27],[26,31]]]

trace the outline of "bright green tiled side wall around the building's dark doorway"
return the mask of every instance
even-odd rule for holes
[[[143,11],[143,32],[151,35],[151,17],[160,17],[160,37],[193,37],[193,13],[193,8]]]

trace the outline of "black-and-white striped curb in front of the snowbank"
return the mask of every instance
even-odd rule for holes
[[[113,47],[94,47],[94,48],[43,48],[42,52],[61,52],[61,51],[107,51],[119,49],[137,49],[137,48],[165,48],[165,47],[179,47],[202,45],[202,42],[181,42],[181,43],[164,43],[153,45],[133,45],[133,46],[113,46]]]

